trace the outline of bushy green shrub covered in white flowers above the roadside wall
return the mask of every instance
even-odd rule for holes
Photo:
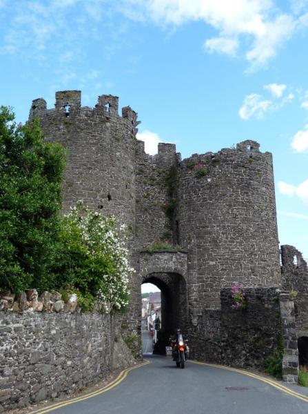
[[[126,242],[125,227],[118,228],[114,217],[104,217],[80,201],[63,217],[58,271],[65,274],[71,290],[76,289],[83,310],[95,300],[106,311],[127,305],[134,269],[128,263]]]

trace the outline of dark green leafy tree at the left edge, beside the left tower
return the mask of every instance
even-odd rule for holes
[[[0,289],[54,285],[65,151],[0,108]]]

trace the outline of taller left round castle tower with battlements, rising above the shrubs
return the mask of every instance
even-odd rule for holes
[[[136,112],[123,108],[120,117],[118,98],[111,95],[101,95],[93,109],[81,107],[80,91],[64,91],[56,93],[54,109],[34,100],[30,120],[34,117],[41,118],[46,140],[67,148],[63,211],[81,199],[134,226]]]

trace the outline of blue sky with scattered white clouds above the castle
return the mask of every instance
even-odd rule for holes
[[[274,156],[278,230],[308,258],[308,0],[0,0],[0,97],[120,97],[149,152],[245,139]]]

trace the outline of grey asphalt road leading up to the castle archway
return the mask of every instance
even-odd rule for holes
[[[307,401],[233,371],[170,357],[147,357],[150,364],[127,374],[110,391],[49,411],[57,414],[307,414]],[[299,387],[296,387],[298,391]],[[302,388],[303,389],[303,388]],[[46,411],[41,411],[46,412]]]

